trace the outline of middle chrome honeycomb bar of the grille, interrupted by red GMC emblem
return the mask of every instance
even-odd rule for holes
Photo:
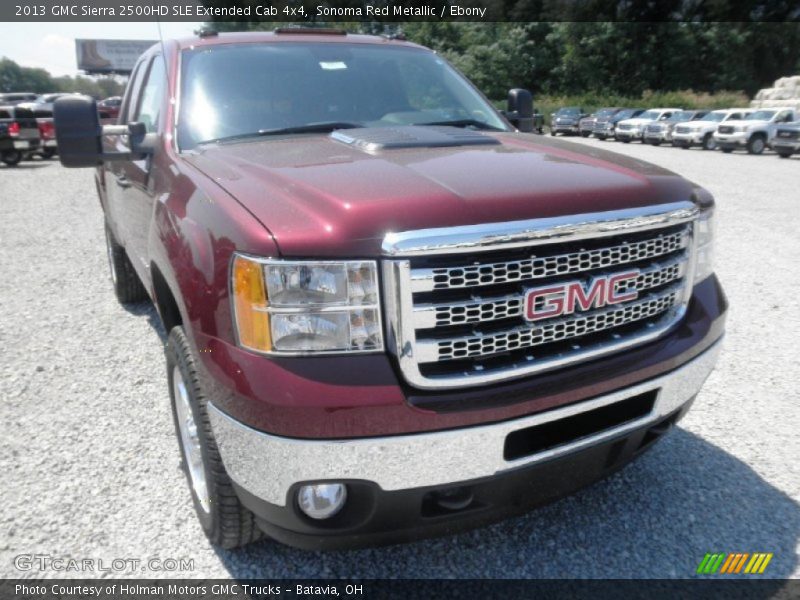
[[[639,277],[628,289],[642,292],[683,277],[686,273],[687,259],[684,253],[670,261],[642,269]],[[522,293],[441,304],[417,304],[414,306],[414,326],[416,329],[432,329],[521,317],[524,300],[525,294]]]

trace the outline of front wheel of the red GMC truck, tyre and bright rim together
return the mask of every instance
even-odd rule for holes
[[[180,325],[167,340],[167,378],[182,466],[203,531],[212,544],[222,548],[255,542],[262,537],[261,530],[255,515],[236,495],[222,464],[197,363]]]

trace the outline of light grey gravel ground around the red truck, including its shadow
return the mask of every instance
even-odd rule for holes
[[[526,517],[382,549],[214,550],[179,470],[149,305],[107,277],[92,174],[0,167],[0,576],[20,554],[193,559],[180,577],[686,577],[706,552],[774,552],[797,577],[800,156],[577,140],[666,166],[717,198],[732,309],[721,362],[681,426],[641,460]]]

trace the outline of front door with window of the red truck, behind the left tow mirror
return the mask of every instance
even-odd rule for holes
[[[144,123],[147,133],[162,132],[164,99],[166,98],[167,73],[163,57],[157,54],[149,65],[138,89],[135,105],[128,111],[128,123]],[[131,98],[133,101],[133,98]],[[128,151],[127,138],[117,142],[120,151]],[[112,185],[117,188],[120,211],[119,224],[124,236],[125,250],[145,285],[150,282],[147,240],[153,216],[153,205],[159,181],[158,161],[160,144],[155,153],[140,160],[119,162]]]

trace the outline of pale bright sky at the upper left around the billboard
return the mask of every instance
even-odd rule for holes
[[[5,1],[5,0],[0,0]],[[161,23],[164,38],[185,37],[201,23]],[[0,57],[51,75],[77,75],[75,38],[158,40],[149,23],[0,23]]]

